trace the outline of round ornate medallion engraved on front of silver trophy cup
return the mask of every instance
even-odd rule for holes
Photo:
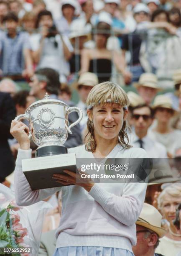
[[[49,128],[54,123],[55,113],[50,108],[42,108],[37,115],[37,119],[40,125]]]

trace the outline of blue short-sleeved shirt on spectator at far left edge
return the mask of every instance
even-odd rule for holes
[[[0,69],[3,75],[23,72],[25,49],[31,49],[28,33],[18,32],[15,38],[10,38],[8,33],[0,34]]]

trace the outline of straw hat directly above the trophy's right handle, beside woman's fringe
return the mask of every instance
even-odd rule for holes
[[[98,77],[96,74],[91,72],[85,72],[80,75],[78,82],[72,84],[75,89],[78,89],[79,85],[92,86],[98,84]]]

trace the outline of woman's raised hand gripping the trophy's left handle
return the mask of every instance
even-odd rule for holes
[[[29,128],[24,123],[13,120],[11,122],[10,133],[20,144],[20,148],[27,150],[30,148],[30,139],[28,138]]]

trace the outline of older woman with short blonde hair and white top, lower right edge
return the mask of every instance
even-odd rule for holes
[[[158,196],[158,209],[163,219],[168,222],[168,232],[160,239],[156,253],[164,256],[176,256],[181,251],[181,233],[173,225],[176,218],[176,208],[181,202],[181,184],[171,184]]]

